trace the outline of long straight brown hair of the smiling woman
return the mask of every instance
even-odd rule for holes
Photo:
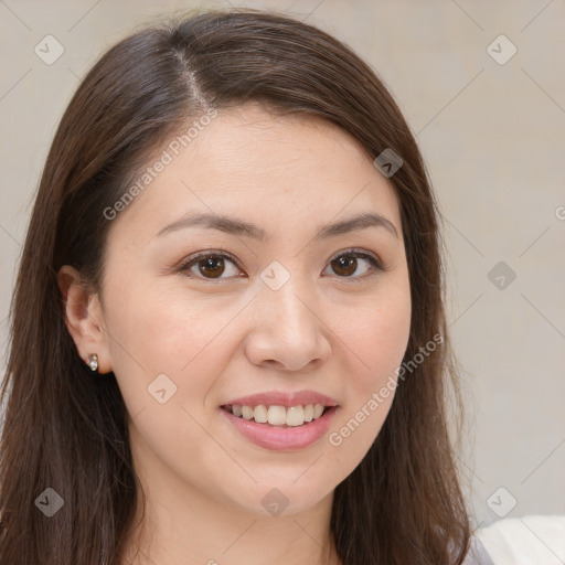
[[[118,565],[139,483],[128,414],[113,374],[93,377],[66,330],[56,274],[96,290],[117,202],[156,148],[205,108],[259,102],[321,117],[371,158],[402,157],[397,195],[413,302],[398,385],[371,449],[334,491],[331,530],[344,565],[455,565],[470,525],[447,427],[455,381],[443,307],[438,211],[408,126],[383,83],[319,29],[258,10],[207,11],[120,41],[71,100],[47,156],[10,311],[2,401],[0,565]],[[422,354],[420,354],[422,356]],[[52,518],[38,498],[64,501]],[[47,494],[51,491],[47,492]]]

